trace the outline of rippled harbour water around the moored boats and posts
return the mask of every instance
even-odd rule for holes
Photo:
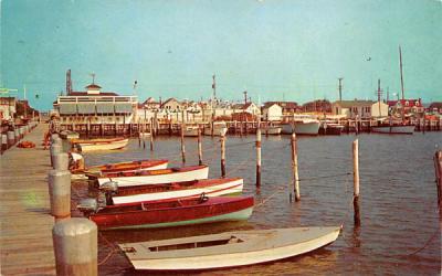
[[[351,141],[359,139],[361,227],[352,225]],[[344,231],[332,245],[314,253],[265,265],[203,272],[202,275],[306,275],[388,274],[440,275],[441,225],[436,204],[432,157],[442,148],[441,132],[412,136],[343,135],[301,137],[298,161],[301,202],[290,202],[290,137],[263,137],[262,187],[255,189],[254,136],[227,140],[228,177],[244,178],[245,194],[259,205],[249,222],[219,223],[179,229],[112,231],[99,234],[101,275],[136,272],[117,243],[219,233],[230,230],[309,225],[340,225]],[[187,164],[198,163],[197,140],[186,139]],[[210,177],[220,177],[219,139],[206,137],[203,159]],[[155,151],[138,140],[120,151],[87,155],[87,164],[143,158],[168,158],[181,166],[178,137],[160,137]],[[74,185],[76,197],[86,185]],[[107,257],[107,258],[106,258]]]

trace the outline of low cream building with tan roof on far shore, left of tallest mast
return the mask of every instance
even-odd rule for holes
[[[373,100],[337,100],[332,104],[333,115],[345,115],[347,118],[367,119],[388,116],[388,105]]]

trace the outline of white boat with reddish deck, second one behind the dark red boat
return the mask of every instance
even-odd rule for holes
[[[117,182],[118,187],[160,184],[191,181],[196,179],[207,179],[209,177],[209,167],[202,164],[149,171],[109,172],[103,174],[102,177],[88,177],[91,179],[96,179],[98,185],[102,185],[108,181]]]

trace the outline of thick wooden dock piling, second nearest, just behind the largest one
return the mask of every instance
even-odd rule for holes
[[[51,214],[55,221],[71,217],[71,172],[50,170],[48,179]]]

